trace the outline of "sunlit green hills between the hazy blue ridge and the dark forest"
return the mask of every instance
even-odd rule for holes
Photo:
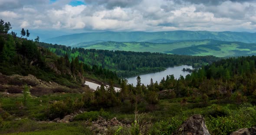
[[[94,45],[74,45],[85,49],[107,49],[138,52],[162,52],[177,55],[214,55],[217,57],[247,56],[256,54],[255,43],[191,40],[171,43],[102,42]]]

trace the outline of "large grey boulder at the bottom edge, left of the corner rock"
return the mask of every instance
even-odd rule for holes
[[[173,135],[210,135],[210,132],[203,116],[197,114],[188,118]]]

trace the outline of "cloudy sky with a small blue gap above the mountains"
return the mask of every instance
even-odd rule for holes
[[[256,0],[0,0],[13,29],[256,32]],[[58,34],[57,34],[58,35]]]

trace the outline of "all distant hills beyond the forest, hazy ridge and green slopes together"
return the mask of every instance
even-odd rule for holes
[[[229,57],[256,54],[256,33],[249,32],[91,32],[62,35],[45,42],[85,49],[178,55]]]

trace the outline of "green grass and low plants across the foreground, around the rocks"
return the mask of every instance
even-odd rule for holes
[[[117,106],[100,111],[89,111],[75,116],[70,123],[38,123],[36,119],[46,119],[46,109],[48,101],[66,100],[81,98],[83,94],[76,93],[55,93],[52,95],[31,98],[26,107],[20,108],[22,94],[13,94],[10,98],[1,97],[1,108],[10,113],[8,118],[0,121],[0,134],[7,135],[66,135],[88,134],[88,125],[84,125],[85,120],[94,121],[98,116],[105,119],[116,117],[119,121],[131,123],[135,119],[132,109],[127,111],[130,104]],[[188,117],[194,114],[201,114],[205,117],[207,128],[212,135],[226,135],[240,129],[248,128],[256,124],[256,107],[248,103],[238,105],[232,103],[218,103],[217,100],[209,100],[203,103],[201,98],[187,97],[187,102],[181,104],[183,98],[160,100],[155,109],[148,109],[147,104],[139,103],[140,113],[146,112],[153,127],[151,135],[165,134],[173,132]],[[16,115],[13,115],[16,114]],[[1,114],[3,116],[3,114]],[[22,118],[21,120],[14,120]],[[223,129],[222,127],[225,127]],[[153,130],[154,129],[154,130]],[[128,129],[127,129],[128,130]],[[164,133],[165,132],[165,133]]]

